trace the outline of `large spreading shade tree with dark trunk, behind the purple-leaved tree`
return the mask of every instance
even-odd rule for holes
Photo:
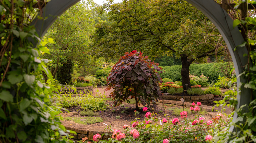
[[[210,20],[183,0],[134,0],[104,5],[109,20],[96,25],[97,56],[117,57],[137,48],[146,55],[181,57],[183,89],[191,88],[189,66],[223,54],[222,36]]]

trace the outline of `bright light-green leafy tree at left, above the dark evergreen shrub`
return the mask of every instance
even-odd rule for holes
[[[62,66],[91,68],[98,65],[91,56],[88,48],[89,35],[94,31],[94,2],[81,1],[64,12],[49,28],[45,37],[53,38],[54,43],[48,43],[50,54],[43,54],[43,58],[51,59],[47,66],[53,76]],[[65,69],[65,67],[62,67]],[[70,73],[67,73],[70,74]],[[45,75],[45,74],[44,74]],[[44,76],[46,79],[47,77]]]

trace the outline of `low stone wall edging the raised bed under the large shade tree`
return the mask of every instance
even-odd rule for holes
[[[177,95],[170,95],[169,93],[163,93],[163,100],[175,100],[181,101],[180,99],[183,98],[186,102],[201,102],[204,105],[213,105],[214,95],[213,94],[205,94],[201,96],[177,96]]]

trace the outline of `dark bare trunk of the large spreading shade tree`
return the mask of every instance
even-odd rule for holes
[[[189,66],[190,63],[187,61],[187,56],[181,55],[181,82],[183,90],[191,89],[190,78],[189,78]]]

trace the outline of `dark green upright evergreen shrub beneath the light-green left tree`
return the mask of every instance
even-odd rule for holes
[[[57,80],[62,85],[72,85],[73,63],[67,61],[57,71]]]

